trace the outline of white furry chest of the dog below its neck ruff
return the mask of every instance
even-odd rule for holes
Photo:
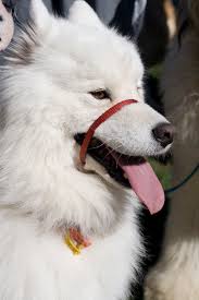
[[[5,285],[0,287],[0,299],[125,299],[140,254],[133,217],[129,212],[114,233],[94,239],[92,245],[77,256],[61,237],[38,236],[34,227],[18,224],[10,230],[13,237],[3,244],[4,249],[1,247],[0,278]]]

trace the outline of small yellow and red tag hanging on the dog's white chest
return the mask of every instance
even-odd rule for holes
[[[79,255],[84,248],[88,248],[91,242],[85,238],[78,228],[70,228],[64,237],[65,244],[74,255]]]

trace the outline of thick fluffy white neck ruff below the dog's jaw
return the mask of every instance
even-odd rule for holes
[[[0,188],[7,206],[38,219],[45,230],[78,226],[84,236],[112,230],[126,207],[124,193],[77,170],[76,143],[62,129],[14,125],[17,134],[8,127],[1,143],[7,177],[0,172]]]

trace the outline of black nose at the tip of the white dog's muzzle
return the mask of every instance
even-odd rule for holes
[[[166,147],[173,142],[174,127],[170,123],[160,123],[152,130],[152,134],[162,147]]]

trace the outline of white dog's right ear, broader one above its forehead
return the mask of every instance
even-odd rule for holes
[[[92,8],[84,0],[76,0],[69,12],[69,21],[79,25],[101,27],[102,22]]]

